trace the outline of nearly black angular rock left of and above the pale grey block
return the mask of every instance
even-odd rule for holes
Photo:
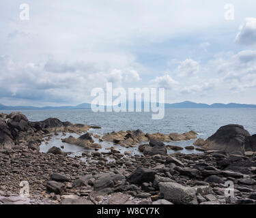
[[[128,176],[127,180],[130,183],[134,184],[142,184],[153,182],[155,178],[156,171],[146,169],[146,168],[137,168],[130,176]]]

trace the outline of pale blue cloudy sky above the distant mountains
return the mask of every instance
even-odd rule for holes
[[[256,104],[255,9],[255,0],[1,0],[0,104],[91,102],[106,82],[163,87],[167,103]]]

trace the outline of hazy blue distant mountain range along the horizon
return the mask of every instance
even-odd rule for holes
[[[229,104],[201,104],[195,102],[180,102],[174,104],[165,104],[166,109],[171,108],[256,108],[255,104],[236,104],[236,103],[229,103]],[[34,106],[5,106],[0,104],[0,110],[67,110],[67,109],[91,109],[91,104],[83,103],[77,106],[60,106],[60,107],[52,107],[52,106],[45,106],[42,108],[34,107]],[[143,109],[143,106],[142,106]]]

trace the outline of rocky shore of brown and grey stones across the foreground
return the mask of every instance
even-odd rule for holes
[[[197,139],[202,153],[185,155],[175,140],[184,134],[120,131],[93,136],[84,124],[58,119],[30,122],[24,114],[0,114],[0,204],[255,204],[255,135],[240,125],[221,127],[208,140]],[[79,138],[65,138],[68,132]],[[40,144],[62,134],[63,142],[91,152],[70,157],[57,147],[40,153]],[[99,152],[99,141],[113,146]],[[163,142],[170,143],[168,146]],[[121,153],[115,144],[141,151]],[[177,151],[171,155],[167,149]],[[183,148],[182,148],[183,149]],[[28,181],[29,196],[20,196]],[[233,185],[233,196],[227,196]],[[231,191],[232,192],[232,191]],[[226,193],[226,194],[225,194]]]

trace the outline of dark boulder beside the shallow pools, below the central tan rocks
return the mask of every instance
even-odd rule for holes
[[[139,146],[139,151],[144,155],[167,155],[165,144],[160,141],[150,141],[150,144],[142,144]]]

